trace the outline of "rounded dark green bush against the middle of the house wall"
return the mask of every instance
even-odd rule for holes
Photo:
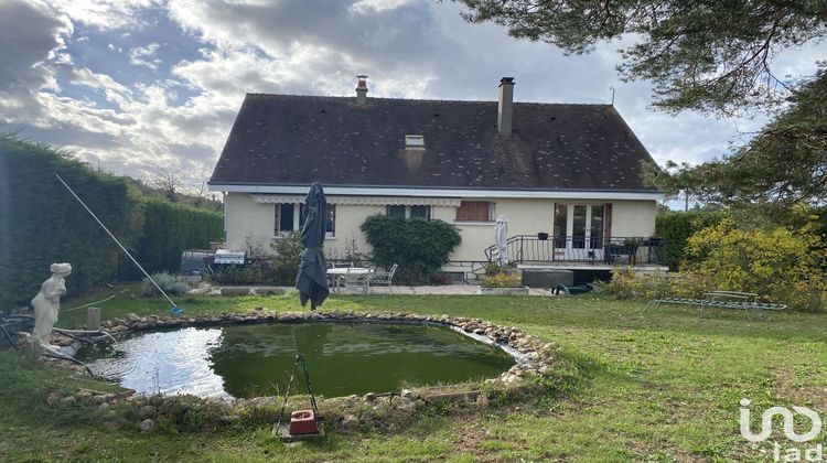
[[[427,282],[459,246],[460,232],[442,220],[374,215],[359,226],[374,260],[385,267],[399,263],[399,280]]]

